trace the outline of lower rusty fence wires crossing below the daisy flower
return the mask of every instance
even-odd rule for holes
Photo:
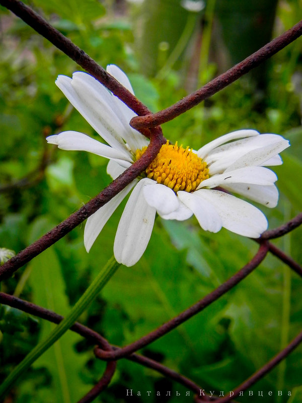
[[[287,223],[287,231],[285,233],[291,232],[293,229],[293,226],[291,225],[292,222],[295,222],[295,228],[302,223],[302,215],[299,214],[296,216],[293,220],[291,220],[289,223]],[[273,230],[275,234],[280,233],[281,231],[284,231],[284,226],[278,227],[275,230]],[[284,234],[285,234],[284,233]],[[266,238],[266,236],[265,236]],[[171,379],[173,379],[176,382],[179,382],[180,384],[186,386],[189,390],[191,390],[193,393],[199,393],[199,390],[202,389],[201,386],[196,385],[193,381],[190,379],[186,378],[185,376],[165,367],[164,365],[151,360],[147,357],[143,357],[138,354],[134,354],[134,351],[137,351],[141,349],[142,347],[146,346],[150,342],[160,338],[164,337],[165,334],[167,334],[168,331],[170,331],[172,328],[177,327],[181,323],[183,323],[185,320],[189,319],[192,317],[194,314],[200,312],[202,309],[204,309],[206,306],[211,304],[212,302],[216,301],[222,294],[225,292],[228,292],[231,288],[235,287],[241,280],[243,280],[245,277],[248,276],[255,268],[258,267],[260,262],[265,258],[266,254],[268,251],[270,251],[271,246],[274,246],[270,244],[266,239],[263,239],[260,242],[260,247],[255,256],[244,266],[241,268],[240,271],[238,271],[234,276],[232,276],[229,280],[227,280],[225,283],[223,283],[221,286],[219,286],[216,290],[212,291],[210,294],[208,294],[206,297],[204,297],[202,300],[198,301],[195,305],[192,307],[188,308],[186,311],[180,313],[178,316],[173,318],[172,320],[168,321],[164,325],[160,326],[158,329],[154,330],[153,332],[149,333],[145,337],[139,339],[137,342],[134,342],[133,344],[125,347],[125,348],[119,348],[117,346],[112,346],[109,344],[109,342],[102,337],[101,334],[95,332],[94,330],[80,324],[80,323],[75,323],[70,330],[73,330],[83,337],[85,337],[87,340],[89,340],[92,343],[96,343],[98,345],[97,348],[95,348],[95,355],[99,359],[105,359],[105,360],[114,360],[114,361],[109,361],[106,367],[106,370],[100,379],[100,381],[97,383],[97,385],[91,389],[87,395],[85,395],[81,400],[79,400],[78,403],[86,403],[93,401],[93,399],[101,393],[101,391],[107,386],[107,384],[110,382],[115,368],[116,368],[116,360],[119,359],[128,359],[133,362],[136,362],[140,365],[146,366],[148,368],[151,368]],[[280,251],[278,248],[276,248],[278,251],[277,253],[282,253],[284,252]],[[275,255],[275,248],[273,248],[273,254]],[[284,254],[285,255],[285,254]],[[286,256],[286,255],[285,255]],[[279,256],[277,256],[279,257]],[[294,263],[295,267],[299,268],[299,273],[301,275],[302,273],[302,267],[297,263],[294,262],[289,256],[287,258],[290,260],[290,264],[288,266],[292,268],[292,263]],[[283,260],[283,259],[282,259]],[[295,268],[293,268],[295,272]],[[302,276],[301,276],[302,277]],[[20,309],[24,312],[33,314],[35,316],[41,317],[43,319],[49,320],[54,323],[59,323],[63,317],[51,312],[45,308],[42,308],[40,306],[37,306],[31,302],[24,301],[20,298],[14,297],[12,295],[8,295],[6,293],[1,293],[0,292],[0,303],[9,305],[11,307]],[[255,382],[257,382],[260,378],[265,376],[268,372],[270,372],[273,368],[275,368],[278,363],[286,358],[300,343],[302,342],[302,332],[300,332],[295,339],[292,340],[291,343],[288,344],[282,351],[280,351],[272,360],[270,360],[267,364],[265,364],[262,368],[260,368],[258,371],[256,371],[250,378],[245,380],[241,385],[236,387],[234,389],[234,395],[232,397],[225,396],[223,398],[217,398],[212,396],[211,399],[219,400],[222,401],[223,403],[227,401],[231,401],[233,398],[235,398],[237,395],[239,395],[240,391],[247,390],[248,388],[251,387]],[[109,364],[112,365],[109,365]],[[203,396],[204,399],[203,401],[206,401],[209,399],[209,395]],[[196,401],[199,401],[200,399],[197,398]]]

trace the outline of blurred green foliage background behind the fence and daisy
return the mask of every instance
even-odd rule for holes
[[[223,44],[223,37],[218,35],[219,16],[213,12],[213,0],[196,14],[183,9],[177,0],[167,0],[154,8],[156,12],[150,13],[147,22],[147,2],[26,3],[102,66],[119,65],[128,74],[137,97],[153,111],[198,88],[225,67],[224,59],[232,59],[226,47],[229,36]],[[235,1],[225,3],[240,13]],[[274,36],[295,24],[302,17],[301,9],[300,0],[279,2],[271,26]],[[254,12],[249,12],[254,19]],[[67,129],[97,138],[54,85],[58,74],[70,76],[81,69],[4,8],[0,13],[0,247],[18,252],[99,193],[110,178],[106,174],[107,160],[57,150],[45,141],[47,135]],[[246,16],[246,10],[242,13]],[[238,34],[244,26],[240,19],[237,23],[239,40],[245,37]],[[266,21],[258,21],[254,29],[261,30],[261,23]],[[200,53],[196,53],[201,33],[201,50],[199,46]],[[261,45],[256,43],[256,49]],[[298,39],[267,63],[265,85],[259,77],[249,75],[163,125],[166,138],[195,149],[241,128],[279,133],[289,139],[291,147],[282,153],[284,164],[275,169],[280,190],[278,207],[272,211],[260,207],[270,228],[301,210],[301,47]],[[219,59],[221,63],[217,63]],[[198,69],[192,69],[192,65]],[[37,169],[41,161],[45,169]],[[83,244],[83,224],[2,283],[1,291],[64,315],[111,257],[122,208],[106,224],[89,254]],[[274,241],[300,262],[301,231],[296,229]],[[224,229],[218,234],[204,232],[194,219],[158,219],[141,260],[132,268],[120,268],[82,315],[81,322],[99,331],[110,343],[127,345],[216,288],[256,250],[253,241]],[[235,289],[142,353],[192,378],[207,392],[228,392],[301,331],[301,287],[300,278],[268,256]],[[52,327],[47,321],[2,306],[0,376],[4,379]],[[36,361],[6,401],[75,402],[98,381],[104,368],[105,364],[94,358],[91,344],[67,332]],[[265,401],[301,402],[301,370],[300,346],[253,387],[254,396],[245,393],[238,401],[259,401],[255,394],[263,390]],[[134,394],[140,390],[142,396],[127,400],[127,388]],[[150,397],[147,390],[152,391]],[[155,396],[157,390],[162,391],[160,400]],[[170,398],[164,397],[168,390],[172,391]],[[268,396],[270,390],[272,396]],[[277,396],[277,390],[283,391],[282,396]],[[176,397],[176,391],[182,397]],[[183,397],[185,391],[150,369],[122,360],[109,388],[96,401],[189,401]],[[287,391],[291,391],[290,398]]]

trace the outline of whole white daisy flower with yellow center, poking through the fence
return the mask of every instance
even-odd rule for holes
[[[107,72],[133,94],[127,76],[116,65],[107,66]],[[148,145],[148,139],[129,125],[135,113],[86,73],[76,72],[72,79],[58,76],[56,85],[108,145],[78,131],[49,136],[48,143],[108,158],[107,173],[116,179]],[[224,227],[258,238],[267,229],[264,214],[229,192],[275,207],[277,176],[265,166],[282,164],[278,153],[288,146],[281,136],[250,129],[221,136],[197,151],[167,142],[145,172],[88,218],[86,250],[131,190],[114,240],[115,258],[126,266],[135,264],[145,251],[156,213],[178,221],[194,214],[205,231]]]

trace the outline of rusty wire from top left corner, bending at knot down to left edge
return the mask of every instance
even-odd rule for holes
[[[150,113],[149,110],[117,80],[108,74],[82,49],[76,46],[62,35],[58,30],[52,27],[41,16],[24,5],[19,0],[0,0],[0,4],[7,7],[18,17],[22,18],[28,25],[35,29],[39,34],[48,39],[57,48],[62,50],[72,60],[76,61],[88,73],[92,74],[106,88],[112,91],[123,102],[127,104],[134,112],[138,114]],[[135,161],[124,173],[116,180],[110,183],[101,193],[91,199],[80,210],[73,213],[61,224],[53,228],[38,241],[34,242],[26,249],[18,253],[12,259],[0,267],[0,281],[10,277],[19,267],[29,262],[33,257],[40,254],[43,250],[54,244],[65,236],[73,228],[81,224],[85,219],[95,213],[100,207],[104,206],[112,197],[120,192],[128,183],[135,179],[157,156],[160,148],[165,144],[166,139],[160,127],[152,130],[142,130],[144,134],[150,137],[150,143],[143,156]]]

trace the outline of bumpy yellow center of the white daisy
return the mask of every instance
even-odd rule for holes
[[[135,159],[141,157],[145,150],[146,147],[136,150]],[[189,147],[184,149],[182,146],[179,147],[177,142],[172,145],[168,141],[147,167],[145,174],[175,192],[178,190],[190,192],[209,177],[209,170],[206,162],[203,162]]]

